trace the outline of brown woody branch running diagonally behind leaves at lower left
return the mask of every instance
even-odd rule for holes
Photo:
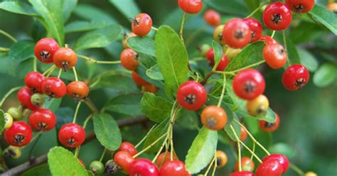
[[[119,128],[122,128],[123,126],[131,126],[137,123],[143,123],[148,121],[146,116],[138,116],[131,119],[121,119],[117,121],[117,124]],[[91,132],[87,135],[87,138],[85,138],[85,143],[88,143],[95,139],[95,133]],[[83,145],[85,144],[83,143]],[[25,172],[26,170],[30,170],[33,167],[36,167],[37,165],[42,165],[43,163],[46,163],[48,160],[47,154],[41,155],[38,158],[35,159],[35,162],[33,164],[26,162],[21,165],[18,165],[16,167],[11,168],[10,170],[7,170],[6,172],[2,173],[1,176],[10,176],[10,175],[20,175],[21,173]]]

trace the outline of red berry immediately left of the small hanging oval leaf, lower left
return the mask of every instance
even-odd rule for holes
[[[76,148],[85,141],[85,129],[77,123],[68,123],[58,131],[58,140],[67,148]]]

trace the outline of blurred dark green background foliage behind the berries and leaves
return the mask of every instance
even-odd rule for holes
[[[122,3],[122,1],[124,0],[115,1],[115,3]],[[149,13],[154,21],[155,27],[165,23],[175,29],[179,28],[182,12],[177,9],[176,0],[138,0],[130,2],[135,2],[141,12]],[[211,2],[212,0],[204,4],[204,10],[216,8],[215,6],[208,6],[212,5]],[[234,16],[245,17],[249,11],[254,9],[247,5],[249,2],[243,0],[228,0],[223,3],[228,4],[228,6],[224,6],[225,8],[218,7],[223,9],[217,9],[218,11],[222,11],[223,21]],[[325,6],[327,1],[316,1],[316,3]],[[240,6],[237,6],[237,4]],[[241,6],[248,10],[240,9]],[[125,8],[125,10],[132,10],[129,9],[128,5],[123,6],[123,8]],[[102,21],[114,21],[113,23],[119,23],[124,26],[126,30],[129,30],[129,19],[119,11],[120,9],[109,1],[78,1],[75,13],[72,14],[66,24],[79,19],[90,21],[90,17],[88,16],[95,16],[97,14],[89,12],[88,9],[102,13],[106,17],[102,18]],[[130,13],[137,13],[137,11]],[[203,13],[199,13],[194,16],[188,15],[186,20],[184,37],[186,45],[188,46],[190,59],[198,57],[198,50],[196,50],[198,45],[210,44],[212,40],[213,28],[205,24],[202,14]],[[257,13],[255,17],[261,20],[260,15],[261,12]],[[132,18],[133,16],[129,17]],[[34,21],[33,18],[2,10],[0,10],[0,29],[11,33],[11,35],[14,35],[18,40],[37,40],[43,35],[46,35],[46,31],[43,30],[41,24]],[[81,34],[82,33],[68,33],[65,35],[66,43],[72,45]],[[154,35],[154,33],[151,33],[151,35]],[[279,33],[277,33],[277,35],[279,35]],[[34,36],[34,38],[32,38],[32,36]],[[336,35],[333,35],[333,33],[327,31],[321,25],[314,23],[314,21],[309,19],[306,15],[294,15],[289,36],[298,47],[298,50],[301,50],[299,53],[301,61],[304,62],[307,67],[310,67],[311,78],[314,77],[314,73],[319,69],[320,65],[334,65],[336,69]],[[122,36],[120,36],[120,38],[122,38]],[[0,35],[1,47],[10,48],[11,45],[10,40]],[[86,50],[83,53],[95,57],[110,58],[109,60],[118,60],[121,50],[122,45],[119,40],[113,42],[107,46],[107,48]],[[205,66],[205,62],[198,63],[203,64],[202,67],[207,67]],[[0,97],[3,97],[12,87],[23,85],[23,77],[27,72],[32,70],[32,65],[33,62],[31,59],[17,62],[0,53]],[[85,65],[84,62],[80,62],[80,66],[77,68],[80,72],[80,77],[83,79],[89,77],[90,74],[88,72],[90,71],[88,69],[92,69],[92,67],[96,67],[95,75],[97,74],[97,68],[112,70],[118,66],[88,66]],[[39,63],[39,68],[45,67]],[[269,149],[286,153],[291,162],[299,166],[304,172],[312,170],[319,175],[337,175],[336,77],[332,75],[335,79],[332,79],[330,84],[325,87],[317,87],[313,84],[313,79],[311,79],[309,84],[300,91],[289,92],[283,88],[281,83],[284,70],[271,70],[265,65],[261,67],[261,70],[267,82],[265,94],[269,97],[271,108],[276,111],[281,118],[279,129],[275,133],[272,133],[272,141]],[[334,73],[336,74],[336,72]],[[90,98],[98,107],[102,107],[105,102],[116,95],[117,91],[109,88],[97,89],[90,92]],[[6,101],[3,109],[6,111],[10,106],[17,105],[18,102],[14,95],[11,99]],[[64,107],[75,109],[75,104],[68,97],[63,98],[61,106],[63,109]],[[68,118],[72,118],[73,116],[71,109],[65,109],[69,111]],[[84,121],[88,113],[89,111],[86,107],[82,106],[78,118],[80,123]],[[117,119],[125,117],[121,114],[114,114],[114,116]],[[60,118],[60,116],[58,116],[58,118]],[[61,118],[66,117],[62,116]],[[150,126],[150,124],[147,124],[122,128],[123,139],[137,143],[141,136],[145,135],[146,129]],[[92,128],[91,122],[89,127]],[[88,131],[90,131],[90,128]],[[176,126],[174,129],[174,143],[176,144],[175,147],[181,160],[183,160],[186,155],[196,134],[197,132],[195,130],[183,126]],[[49,131],[43,134],[33,153],[36,156],[48,153],[48,149],[56,144],[55,130]],[[1,145],[3,148],[6,146],[2,138]],[[29,148],[30,145],[23,149],[26,155],[23,155],[18,160],[6,159],[7,165],[14,167],[19,163],[26,162]],[[222,143],[219,143],[218,148],[225,150],[225,153],[228,154],[228,165],[218,170],[217,175],[229,175],[235,163],[233,151],[228,145],[223,145]],[[79,158],[81,158],[86,165],[89,165],[90,161],[100,158],[102,150],[103,148],[100,143],[94,140],[81,148]],[[105,160],[107,159],[109,159],[109,155],[106,156]],[[290,170],[286,175],[295,175],[295,173]]]

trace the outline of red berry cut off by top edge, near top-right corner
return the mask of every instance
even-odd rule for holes
[[[291,11],[296,13],[306,13],[314,8],[315,0],[286,0],[286,4]]]

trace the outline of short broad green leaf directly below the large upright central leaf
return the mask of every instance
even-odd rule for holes
[[[144,93],[141,99],[141,111],[149,117],[151,121],[160,123],[171,115],[173,104],[161,97],[151,93]]]

